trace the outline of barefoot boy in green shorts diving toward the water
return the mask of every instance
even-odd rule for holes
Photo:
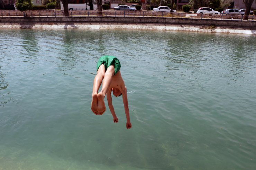
[[[126,115],[126,128],[131,128],[130,113],[128,108],[127,90],[125,82],[121,77],[120,73],[121,64],[119,60],[114,56],[102,56],[97,63],[97,75],[93,81],[92,89],[92,112],[96,115],[102,115],[106,111],[104,103],[104,97],[107,94],[109,110],[113,116],[113,121],[118,122],[114,107],[112,105],[111,92],[113,95],[118,97],[122,95],[125,115]],[[103,81],[103,82],[102,82]],[[102,83],[102,89],[98,93]]]

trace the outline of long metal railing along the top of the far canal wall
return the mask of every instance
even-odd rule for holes
[[[64,11],[58,10],[29,10],[27,12],[2,10],[0,17],[165,17],[165,18],[189,18],[189,19],[214,19],[214,20],[243,20],[244,16],[226,14],[195,14],[184,12],[157,12],[157,11]],[[248,20],[256,21],[255,15],[249,15]]]

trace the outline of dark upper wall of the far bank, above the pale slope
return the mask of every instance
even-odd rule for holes
[[[256,21],[219,20],[219,19],[189,19],[162,17],[3,17],[0,23],[65,23],[65,22],[102,22],[102,23],[164,23],[185,25],[215,25],[229,27],[250,27],[256,29]]]

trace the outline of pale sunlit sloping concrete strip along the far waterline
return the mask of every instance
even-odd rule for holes
[[[0,28],[6,29],[139,29],[139,30],[163,30],[163,31],[193,31],[209,33],[239,33],[255,34],[256,29],[237,28],[237,27],[216,27],[211,29],[209,26],[183,25],[183,24],[156,24],[156,23],[0,23]]]

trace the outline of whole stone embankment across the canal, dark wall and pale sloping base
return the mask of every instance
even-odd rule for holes
[[[143,29],[256,34],[256,21],[165,17],[2,17],[0,28]]]

